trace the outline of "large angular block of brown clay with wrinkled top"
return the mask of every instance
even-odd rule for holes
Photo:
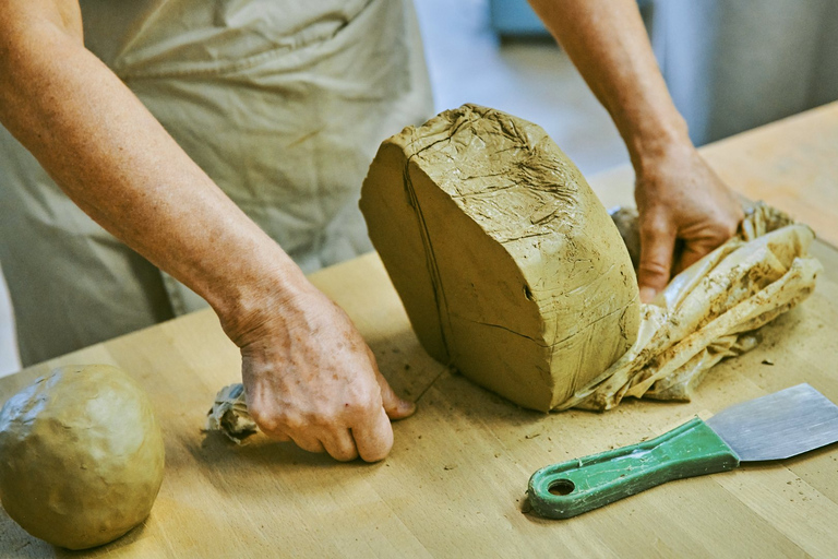
[[[426,349],[549,411],[637,335],[620,235],[538,126],[464,105],[386,140],[361,211]]]

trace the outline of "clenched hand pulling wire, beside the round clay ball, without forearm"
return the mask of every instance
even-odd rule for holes
[[[385,457],[390,419],[415,406],[390,388],[349,317],[313,287],[265,308],[268,317],[249,320],[249,331],[234,337],[260,429],[340,461]]]

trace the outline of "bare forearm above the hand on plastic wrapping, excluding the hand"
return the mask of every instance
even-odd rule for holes
[[[530,0],[608,109],[635,168],[692,147],[651,51],[635,0]]]

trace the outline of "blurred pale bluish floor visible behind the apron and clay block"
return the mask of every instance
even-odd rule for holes
[[[536,122],[585,175],[628,160],[608,114],[549,39],[501,41],[486,0],[415,2],[438,110],[477,103]],[[0,376],[20,368],[12,324],[0,281]]]

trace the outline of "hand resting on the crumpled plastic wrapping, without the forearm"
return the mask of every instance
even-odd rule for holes
[[[641,299],[651,300],[678,273],[735,234],[744,217],[731,191],[692,145],[673,150],[637,173]],[[683,250],[673,262],[675,240]]]

